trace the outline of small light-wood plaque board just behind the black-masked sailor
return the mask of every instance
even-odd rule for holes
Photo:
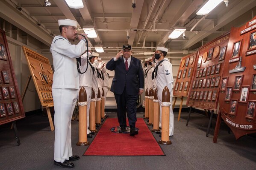
[[[174,86],[174,96],[188,96],[188,89],[192,79],[196,57],[197,53],[193,53],[181,59]]]

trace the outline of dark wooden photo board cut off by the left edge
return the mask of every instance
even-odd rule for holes
[[[0,30],[0,125],[24,117],[6,34]]]

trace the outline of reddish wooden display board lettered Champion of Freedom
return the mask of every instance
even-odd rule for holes
[[[255,57],[256,17],[245,26],[231,29],[213,142],[217,142],[221,118],[230,127],[236,139],[256,133]]]

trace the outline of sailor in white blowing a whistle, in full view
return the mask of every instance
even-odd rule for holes
[[[79,159],[74,156],[71,147],[71,117],[77,102],[79,89],[79,73],[76,58],[86,50],[86,40],[79,35],[80,42],[72,45],[71,40],[77,36],[77,21],[58,20],[61,35],[53,39],[51,52],[53,55],[53,85],[54,102],[54,164],[61,167],[74,167],[71,161]]]

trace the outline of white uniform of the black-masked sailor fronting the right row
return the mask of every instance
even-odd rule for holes
[[[167,58],[164,58],[162,63],[158,66],[158,71],[156,75],[156,87],[157,87],[157,97],[159,100],[159,105],[160,105],[160,117],[159,117],[159,126],[162,127],[162,91],[165,88],[165,86],[168,87],[170,91],[170,103],[172,103],[172,98],[173,98],[173,83],[174,83],[174,78],[172,74],[172,65],[169,62]],[[170,123],[169,123],[169,136],[174,135],[174,113],[172,111],[172,105],[170,105]]]

